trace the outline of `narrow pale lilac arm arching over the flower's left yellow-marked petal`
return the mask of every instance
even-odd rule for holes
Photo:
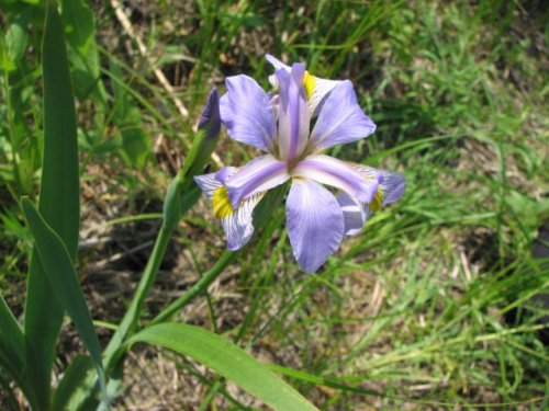
[[[228,196],[233,208],[243,198],[259,192],[266,192],[290,179],[285,162],[277,160],[271,155],[258,157],[240,168],[226,181]]]

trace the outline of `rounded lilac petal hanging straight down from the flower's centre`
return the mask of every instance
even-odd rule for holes
[[[301,179],[293,180],[285,204],[293,255],[305,273],[313,273],[339,248],[345,229],[341,208],[321,184]]]

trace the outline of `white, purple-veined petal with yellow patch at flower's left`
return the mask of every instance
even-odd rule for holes
[[[213,214],[223,226],[231,251],[243,248],[251,238],[254,208],[264,196],[264,193],[258,193],[246,198],[237,208],[233,208],[227,187],[223,184],[235,172],[234,167],[227,167],[217,173],[194,176],[194,181],[212,203]]]

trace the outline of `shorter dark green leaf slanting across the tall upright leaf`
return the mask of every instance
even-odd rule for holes
[[[36,250],[44,272],[54,288],[51,299],[59,300],[70,316],[78,330],[78,334],[90,352],[91,359],[93,359],[93,364],[98,370],[100,384],[103,387],[103,392],[105,392],[98,334],[93,329],[90,311],[86,305],[70,255],[63,240],[46,224],[29,198],[23,197],[21,199],[21,208],[34,236]]]

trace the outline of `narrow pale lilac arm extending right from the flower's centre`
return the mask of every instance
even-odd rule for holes
[[[356,197],[361,203],[370,203],[379,185],[377,179],[366,179],[351,164],[324,155],[306,157],[295,164],[291,171],[291,175],[332,185]]]

